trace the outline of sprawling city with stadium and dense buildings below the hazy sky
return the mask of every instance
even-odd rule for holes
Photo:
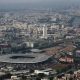
[[[80,11],[1,11],[0,80],[80,80]]]

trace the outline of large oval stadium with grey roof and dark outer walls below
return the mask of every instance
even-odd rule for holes
[[[45,53],[6,54],[0,56],[0,63],[16,69],[43,68],[53,61],[52,57]]]

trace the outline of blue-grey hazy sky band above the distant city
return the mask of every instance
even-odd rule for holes
[[[80,0],[0,0],[0,9],[80,7],[79,4]]]

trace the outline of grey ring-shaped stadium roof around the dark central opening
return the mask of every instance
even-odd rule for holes
[[[31,56],[34,58],[16,58],[16,59],[12,59],[10,57],[12,56]],[[4,62],[4,63],[39,63],[39,62],[43,62],[46,61],[47,59],[49,59],[51,57],[51,55],[47,55],[47,54],[35,54],[35,53],[26,53],[26,54],[7,54],[7,55],[2,55],[0,56],[0,62]]]

